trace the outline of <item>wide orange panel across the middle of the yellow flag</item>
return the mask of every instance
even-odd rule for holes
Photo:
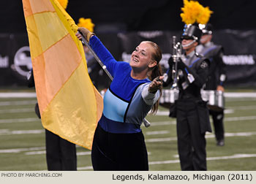
[[[55,53],[59,53],[59,55]],[[42,112],[61,89],[61,86],[66,83],[81,60],[82,57],[69,34],[34,59],[34,75],[39,79],[36,88],[40,86],[41,89],[37,91],[37,97],[44,96],[42,98],[44,101],[39,104]]]

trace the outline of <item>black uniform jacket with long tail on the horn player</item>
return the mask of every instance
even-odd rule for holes
[[[170,58],[170,69],[167,72],[167,81],[163,83],[164,86],[173,83],[173,64],[173,58]],[[206,131],[211,132],[206,101],[202,100],[200,93],[201,88],[206,83],[209,67],[210,61],[208,58],[198,55],[195,52],[187,58],[183,55],[181,61],[178,61],[178,100],[195,101],[202,133]]]

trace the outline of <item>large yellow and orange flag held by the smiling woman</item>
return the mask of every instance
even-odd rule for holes
[[[78,26],[57,0],[23,0],[42,126],[91,149],[103,101],[91,83]]]

